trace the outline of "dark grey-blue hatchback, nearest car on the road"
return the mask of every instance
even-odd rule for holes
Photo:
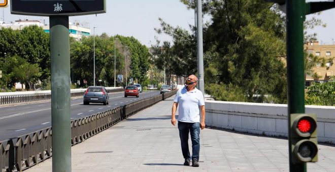
[[[90,86],[84,94],[84,105],[89,103],[103,103],[109,104],[108,91],[103,86]]]

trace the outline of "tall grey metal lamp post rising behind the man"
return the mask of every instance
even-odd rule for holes
[[[196,33],[197,33],[197,57],[198,57],[198,88],[205,94],[204,83],[204,52],[203,52],[203,10],[202,1],[196,0]]]

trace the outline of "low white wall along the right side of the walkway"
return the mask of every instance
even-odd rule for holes
[[[287,137],[287,105],[245,102],[206,102],[206,125],[239,132]],[[317,115],[318,141],[335,144],[335,107],[306,106]]]

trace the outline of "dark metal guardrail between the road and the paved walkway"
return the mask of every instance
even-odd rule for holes
[[[71,143],[84,140],[106,130],[136,112],[169,98],[177,91],[142,99],[114,109],[71,121]],[[22,171],[52,156],[52,128],[0,142],[0,167],[2,171]]]

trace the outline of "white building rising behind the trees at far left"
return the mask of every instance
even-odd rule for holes
[[[4,23],[0,21],[1,28],[12,28],[13,30],[21,30],[22,28],[29,25],[38,25],[43,28],[47,33],[50,32],[49,24],[45,22],[41,23],[39,20],[16,20],[11,23]],[[80,24],[79,22],[69,23],[69,33],[71,37],[74,37],[76,40],[81,40],[83,37],[88,37],[90,35],[90,28]]]

